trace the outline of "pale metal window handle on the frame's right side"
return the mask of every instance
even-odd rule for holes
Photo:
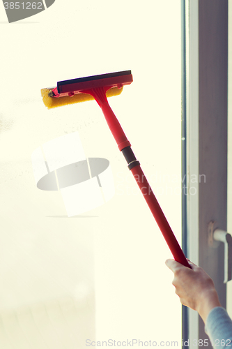
[[[232,279],[232,237],[228,232],[216,229],[213,239],[224,242],[224,283],[227,283]]]

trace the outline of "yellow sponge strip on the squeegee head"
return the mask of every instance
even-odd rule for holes
[[[90,94],[75,94],[72,97],[51,97],[49,94],[52,89],[41,89],[42,101],[48,109],[55,107],[62,107],[63,105],[75,104],[79,102],[93,101],[93,97]],[[123,91],[123,87],[118,89],[118,87],[112,87],[107,91],[107,97],[118,96]]]

